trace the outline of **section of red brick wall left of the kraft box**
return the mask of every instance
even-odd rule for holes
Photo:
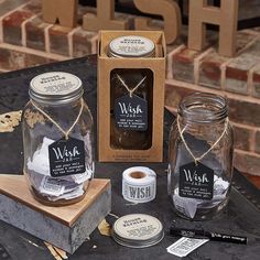
[[[97,51],[97,33],[44,23],[41,0],[0,0],[0,72],[80,57]]]

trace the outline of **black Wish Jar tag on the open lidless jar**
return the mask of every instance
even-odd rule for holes
[[[213,198],[214,171],[201,162],[191,162],[180,167],[181,197],[210,201]]]

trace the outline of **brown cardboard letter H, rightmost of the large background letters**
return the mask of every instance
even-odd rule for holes
[[[201,51],[205,45],[206,23],[219,25],[219,54],[234,56],[238,19],[238,0],[221,0],[220,8],[207,0],[189,0],[188,48]]]

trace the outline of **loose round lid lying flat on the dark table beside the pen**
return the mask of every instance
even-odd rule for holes
[[[117,219],[112,227],[116,242],[130,248],[145,248],[164,237],[162,223],[147,214],[130,214]]]

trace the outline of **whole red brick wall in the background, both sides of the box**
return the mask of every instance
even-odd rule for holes
[[[80,57],[97,52],[97,33],[67,29],[42,21],[41,0],[0,0],[0,72]],[[128,19],[132,15],[117,13]],[[160,22],[154,21],[160,24]],[[237,36],[237,56],[217,54],[217,33],[209,32],[203,52],[187,50],[187,29],[167,46],[165,106],[173,112],[181,98],[194,91],[224,95],[235,129],[235,165],[260,176],[260,29]]]

